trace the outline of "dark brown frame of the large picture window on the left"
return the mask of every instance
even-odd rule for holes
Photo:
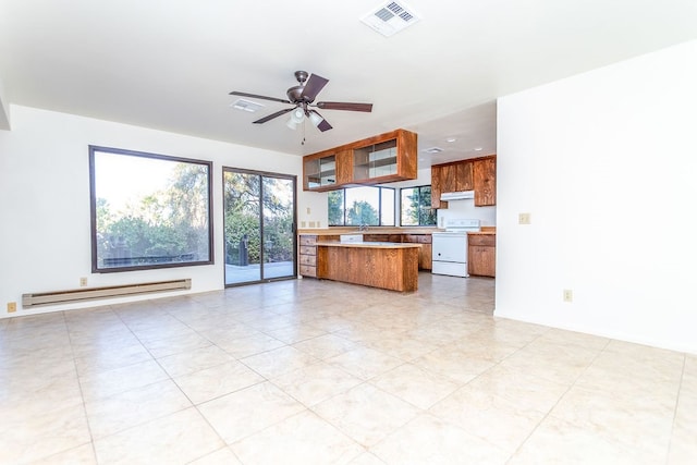
[[[198,160],[183,157],[174,157],[161,154],[151,154],[145,151],[127,150],[114,147],[103,147],[89,145],[89,222],[90,222],[90,242],[91,242],[91,272],[93,273],[112,273],[112,272],[126,272],[126,271],[142,271],[163,268],[180,268],[180,267],[193,267],[201,265],[215,264],[215,242],[213,242],[213,183],[212,183],[212,168],[213,163],[209,160]],[[192,261],[170,261],[170,262],[150,262],[146,265],[129,265],[117,267],[103,267],[99,266],[98,256],[98,240],[97,240],[97,180],[96,180],[96,163],[98,154],[122,155],[127,157],[139,157],[154,160],[170,161],[175,163],[187,163],[194,166],[201,166],[206,169],[206,197],[207,197],[207,222],[208,233],[206,234],[208,240],[208,257],[204,260]]]

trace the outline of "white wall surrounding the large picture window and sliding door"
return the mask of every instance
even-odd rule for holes
[[[87,277],[89,285],[192,278],[191,292],[223,289],[223,166],[297,175],[298,217],[311,205],[302,192],[297,156],[26,107],[11,106],[11,114],[12,131],[0,131],[0,318],[96,305],[5,311],[7,303],[21,304],[23,293],[75,289],[81,277]],[[90,144],[212,160],[216,264],[91,274]]]

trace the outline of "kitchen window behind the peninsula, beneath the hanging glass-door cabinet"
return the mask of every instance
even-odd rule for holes
[[[390,187],[347,187],[328,195],[329,225],[393,227],[394,189]]]

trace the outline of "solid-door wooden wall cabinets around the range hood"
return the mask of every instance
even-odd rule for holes
[[[475,207],[497,205],[497,156],[431,167],[431,208],[448,208],[445,192],[474,191]]]

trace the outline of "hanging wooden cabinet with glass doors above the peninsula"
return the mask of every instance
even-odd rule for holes
[[[396,130],[303,157],[303,188],[332,191],[417,178],[417,136]],[[322,168],[325,167],[325,169]]]

